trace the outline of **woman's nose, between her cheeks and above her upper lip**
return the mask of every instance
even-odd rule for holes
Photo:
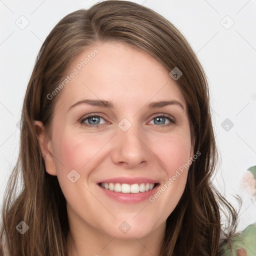
[[[126,131],[117,128],[111,152],[114,163],[134,168],[139,164],[145,164],[151,155],[146,136],[137,125],[131,125]]]

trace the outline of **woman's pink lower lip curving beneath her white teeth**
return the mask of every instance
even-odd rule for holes
[[[145,191],[145,192],[139,192],[139,193],[122,193],[122,192],[116,192],[116,191],[111,191],[109,189],[105,189],[98,185],[102,191],[112,199],[118,201],[118,202],[130,202],[130,203],[136,203],[136,202],[142,202],[144,200],[149,200],[149,197],[152,196],[156,188],[159,186],[157,184],[153,189]]]

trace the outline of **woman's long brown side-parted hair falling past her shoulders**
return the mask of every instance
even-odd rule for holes
[[[33,120],[40,120],[50,134],[54,104],[51,93],[66,74],[68,63],[89,45],[118,40],[155,57],[171,71],[182,71],[176,81],[188,109],[194,152],[180,201],[166,220],[159,254],[217,255],[224,235],[221,209],[229,212],[230,234],[237,213],[211,183],[218,154],[211,123],[208,85],[204,71],[184,36],[153,10],[129,1],[106,0],[89,9],[63,17],[43,42],[26,89],[17,163],[9,177],[2,209],[0,232],[10,256],[66,256],[68,220],[66,200],[56,176],[45,171]],[[21,191],[16,195],[18,177]],[[24,221],[29,230],[20,234],[16,225]]]

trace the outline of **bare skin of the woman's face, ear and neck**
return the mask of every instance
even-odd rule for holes
[[[67,201],[69,235],[74,239],[69,255],[159,255],[166,218],[184,191],[188,168],[154,202],[117,202],[96,182],[142,176],[159,180],[160,186],[166,183],[194,154],[186,102],[168,70],[128,44],[92,45],[70,62],[68,70],[94,48],[99,52],[57,95],[51,136],[34,121],[46,171],[57,175]],[[79,104],[68,110],[82,99],[109,100],[114,108]],[[175,104],[145,106],[160,100],[177,100],[184,109]],[[103,116],[99,127],[77,121],[89,113]],[[176,123],[167,118],[158,123],[155,116],[162,113]],[[131,123],[127,131],[118,126],[123,118]],[[72,169],[80,174],[74,183],[67,178]],[[126,233],[118,228],[123,221],[131,226]]]

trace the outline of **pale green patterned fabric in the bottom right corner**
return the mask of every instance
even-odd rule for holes
[[[230,237],[228,243],[221,246],[223,256],[256,255],[256,222],[248,225],[241,233]]]

